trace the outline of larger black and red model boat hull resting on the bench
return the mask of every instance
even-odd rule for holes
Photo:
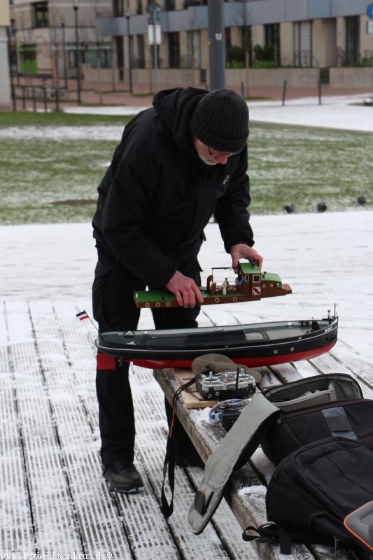
[[[258,367],[314,358],[337,342],[336,316],[301,321],[170,330],[101,332],[96,341],[103,369],[115,358],[150,368],[190,367],[206,353],[223,353],[236,363]],[[108,358],[108,360],[106,360]]]

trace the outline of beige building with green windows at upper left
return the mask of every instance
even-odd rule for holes
[[[111,0],[13,0],[12,31],[17,70],[24,76],[76,76],[82,68],[111,68],[111,38],[97,21],[112,15]]]

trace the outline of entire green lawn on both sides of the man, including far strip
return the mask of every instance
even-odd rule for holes
[[[124,125],[122,116],[0,113],[2,126]],[[5,124],[6,123],[6,124]],[[120,132],[118,141],[120,140]],[[0,223],[90,221],[118,141],[0,138]],[[372,134],[253,123],[249,138],[251,212],[373,207]],[[56,202],[69,201],[67,204]],[[76,201],[76,202],[74,202]],[[360,207],[359,207],[360,208]]]

